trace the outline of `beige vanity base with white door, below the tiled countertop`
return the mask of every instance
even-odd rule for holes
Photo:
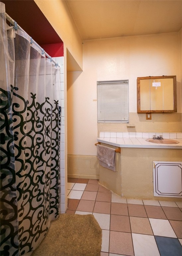
[[[180,201],[181,155],[182,149],[121,147],[116,154],[118,171],[99,165],[99,183],[124,198]]]

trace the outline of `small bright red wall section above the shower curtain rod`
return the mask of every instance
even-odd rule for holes
[[[63,43],[40,45],[50,57],[64,56]]]

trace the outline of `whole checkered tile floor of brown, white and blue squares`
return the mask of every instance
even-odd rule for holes
[[[66,213],[94,215],[101,256],[182,256],[182,202],[126,199],[97,180],[68,178]]]

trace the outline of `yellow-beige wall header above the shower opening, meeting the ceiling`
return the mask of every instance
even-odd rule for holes
[[[76,62],[75,70],[81,70],[83,67],[82,59],[82,39],[72,15],[64,0],[34,0],[41,9],[46,19],[52,25],[59,37],[64,43],[64,48],[69,51],[69,62]],[[64,55],[66,57],[66,55]],[[72,60],[70,60],[70,58]],[[71,63],[72,65],[72,63]]]

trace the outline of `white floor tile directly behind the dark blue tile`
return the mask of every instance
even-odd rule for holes
[[[177,238],[168,220],[149,218],[149,221],[153,230],[153,234],[155,236],[166,236],[166,237]]]

